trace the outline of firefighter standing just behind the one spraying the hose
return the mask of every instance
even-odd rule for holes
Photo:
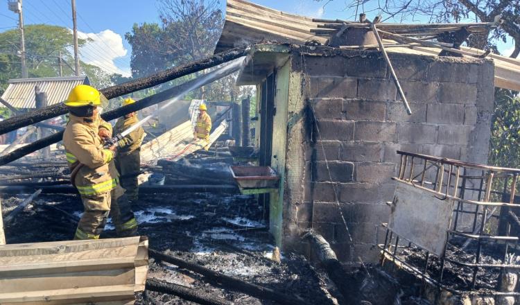
[[[135,103],[132,98],[126,98],[123,101],[123,106]],[[124,117],[117,120],[114,127],[114,134],[120,134],[121,132],[130,128],[130,126],[139,122],[137,119],[137,112],[130,112]],[[137,184],[137,176],[139,175],[141,165],[141,143],[144,139],[144,130],[139,127],[136,130],[130,132],[126,137],[119,141],[119,148],[115,159],[117,171],[119,171],[119,177],[121,186],[126,190],[128,199],[130,202],[137,201],[139,195],[139,189]]]

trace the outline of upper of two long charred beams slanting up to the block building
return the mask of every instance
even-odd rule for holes
[[[131,80],[129,82],[124,82],[120,85],[115,85],[112,87],[101,89],[101,93],[105,95],[108,99],[123,96],[124,94],[130,94],[141,89],[150,88],[162,84],[163,82],[175,80],[176,78],[187,76],[191,73],[196,73],[204,69],[215,67],[218,64],[223,64],[236,58],[240,58],[244,55],[247,55],[248,49],[249,46],[241,46],[236,49],[231,49],[222,53],[215,54],[209,58],[196,60],[195,62],[189,62],[188,64],[184,64],[180,67],[174,67],[171,69],[160,71],[155,74],[152,74],[151,76],[137,78],[137,80]],[[10,119],[6,119],[5,121],[1,121],[0,134],[4,134],[12,130],[17,130],[18,128],[27,125],[32,125],[34,123],[44,121],[46,119],[51,119],[55,116],[59,116],[66,113],[67,107],[65,107],[62,103],[59,103],[29,112],[27,114],[21,114]]]

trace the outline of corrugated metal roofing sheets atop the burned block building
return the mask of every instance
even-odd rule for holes
[[[320,28],[323,30],[322,25],[325,21],[318,21],[313,21],[309,17],[292,15],[259,6],[245,0],[227,0],[225,24],[215,53],[244,44],[268,40],[294,44],[304,44],[311,40],[317,40],[324,44],[328,37],[311,33],[311,29]],[[485,53],[482,50],[464,47],[462,47],[462,50],[475,55]],[[387,51],[437,56],[442,50],[413,46],[411,48],[388,48]],[[488,58],[492,58],[495,63],[495,87],[520,91],[520,60],[497,54],[490,54]]]

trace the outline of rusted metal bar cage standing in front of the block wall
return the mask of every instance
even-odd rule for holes
[[[383,224],[386,235],[384,244],[379,245],[383,252],[381,263],[385,259],[399,261],[417,277],[452,293],[482,289],[490,295],[520,295],[496,290],[505,270],[520,269],[514,259],[520,256],[520,198],[515,195],[520,170],[397,153],[401,162],[398,177],[393,179],[398,184],[414,186],[438,200],[452,200],[454,209],[449,227],[440,228],[447,234],[441,255],[417,245],[417,241],[406,240]],[[454,281],[458,275],[467,275],[468,280]],[[480,282],[479,277],[483,277]]]

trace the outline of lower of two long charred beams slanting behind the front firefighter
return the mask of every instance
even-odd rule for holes
[[[105,121],[111,121],[113,119],[117,119],[121,116],[124,116],[125,114],[129,114],[130,112],[136,112],[138,110],[141,110],[143,108],[149,107],[151,105],[155,105],[157,103],[161,103],[162,101],[166,101],[168,98],[173,98],[174,96],[177,96],[184,92],[187,88],[192,87],[194,84],[200,85],[200,87],[209,84],[210,82],[214,82],[215,80],[219,78],[223,78],[236,70],[238,70],[239,67],[236,67],[235,69],[229,69],[226,70],[225,73],[221,73],[220,71],[212,71],[207,73],[207,80],[205,82],[200,82],[198,79],[189,80],[188,82],[184,82],[182,85],[178,85],[176,87],[166,89],[162,92],[159,92],[157,94],[154,94],[153,96],[148,96],[147,98],[143,98],[140,101],[137,101],[136,103],[119,107],[117,109],[111,110],[109,112],[105,112],[104,114],[101,114],[101,117]],[[7,120],[6,120],[7,121]],[[5,121],[0,122],[0,132],[1,132],[1,123]],[[16,150],[13,150],[12,152],[3,155],[0,157],[0,166],[8,164],[10,162],[13,162],[21,157],[24,157],[25,155],[28,155],[30,153],[33,153],[37,150],[40,150],[46,146],[49,146],[53,143],[57,143],[58,141],[61,141],[63,137],[63,131],[57,132],[49,137],[45,137],[43,139],[39,139],[37,141],[34,141],[33,143],[29,143],[26,146],[23,146],[21,148],[18,148]]]

